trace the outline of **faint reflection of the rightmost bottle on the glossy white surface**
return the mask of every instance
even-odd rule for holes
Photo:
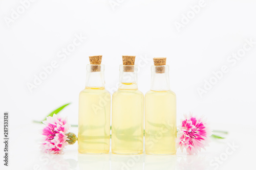
[[[145,170],[174,170],[176,155],[145,155]]]

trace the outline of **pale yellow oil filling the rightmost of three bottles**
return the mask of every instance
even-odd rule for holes
[[[176,153],[176,95],[173,91],[145,94],[145,152],[153,155]]]

